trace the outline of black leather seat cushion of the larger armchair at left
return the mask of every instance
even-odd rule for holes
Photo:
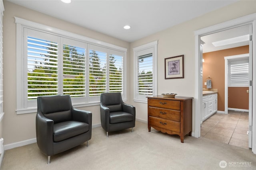
[[[89,131],[89,125],[84,122],[64,121],[55,123],[53,128],[53,140],[54,142],[63,141],[87,131]]]

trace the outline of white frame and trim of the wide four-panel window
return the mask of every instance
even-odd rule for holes
[[[124,63],[123,63],[123,81],[124,81],[124,87],[123,87],[123,94],[122,98],[124,101],[127,101],[126,98],[126,55],[127,55],[127,49],[124,47],[119,47],[117,45],[113,45],[110,43],[106,43],[103,41],[98,41],[96,39],[92,39],[89,37],[85,37],[82,35],[78,35],[75,33],[71,33],[68,31],[64,31],[62,29],[58,29],[55,27],[50,27],[48,25],[43,25],[40,23],[36,23],[33,21],[24,20],[22,18],[14,17],[15,23],[16,23],[16,113],[17,114],[24,114],[24,113],[35,113],[37,111],[37,106],[31,106],[31,107],[25,107],[25,96],[24,96],[24,28],[28,29],[34,29],[36,31],[42,31],[44,33],[49,33],[53,35],[57,35],[60,37],[81,41],[83,43],[90,43],[92,45],[98,45],[100,47],[104,47],[110,50],[115,50],[118,52],[122,52],[124,54]],[[89,50],[88,46],[86,48],[86,57],[89,56]],[[88,57],[87,57],[88,58]],[[86,68],[88,69],[88,68]],[[88,70],[86,70],[87,72]],[[86,77],[87,78],[87,77]],[[88,86],[87,86],[88,87]],[[86,101],[74,101],[72,100],[72,104],[74,107],[85,107],[85,106],[95,106],[100,104],[100,96],[98,96],[97,100],[90,100],[89,96],[87,96]]]

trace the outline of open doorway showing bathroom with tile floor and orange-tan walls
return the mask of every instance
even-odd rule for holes
[[[240,39],[241,37],[245,38]],[[218,101],[218,111],[211,114],[212,116],[202,123],[200,135],[204,138],[248,149],[249,96],[246,90],[249,85],[249,54],[244,55],[244,53],[249,53],[249,25],[205,35],[201,37],[201,40],[204,42],[202,47],[204,59],[202,86],[204,90],[218,91],[218,100],[215,100]],[[219,43],[225,40],[228,42],[213,45],[214,42]],[[227,55],[228,57],[226,57]],[[205,85],[208,77],[211,77],[211,88]],[[228,90],[236,90],[236,93],[228,94]],[[226,98],[226,94],[229,98]],[[208,105],[214,104],[212,99],[209,102],[204,101],[205,98],[212,96],[203,95],[205,95],[203,96],[203,113],[208,110],[215,111],[211,107],[208,108]],[[205,104],[205,102],[207,103]],[[225,108],[225,103],[229,103],[228,108]]]

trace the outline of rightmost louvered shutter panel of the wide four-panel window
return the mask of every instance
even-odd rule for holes
[[[110,52],[111,53],[111,52]],[[123,94],[123,56],[109,55],[109,92],[120,92]]]

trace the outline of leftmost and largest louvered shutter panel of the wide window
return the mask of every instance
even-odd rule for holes
[[[58,43],[27,37],[28,99],[58,94]]]

